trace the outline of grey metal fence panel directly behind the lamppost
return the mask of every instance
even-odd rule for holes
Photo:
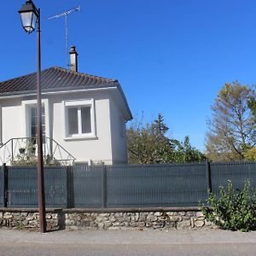
[[[7,166],[7,207],[38,207],[38,173],[35,167]],[[46,207],[67,207],[67,168],[45,167]]]

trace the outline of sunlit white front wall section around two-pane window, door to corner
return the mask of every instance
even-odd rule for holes
[[[64,106],[65,100],[95,100],[96,138],[65,139]],[[70,94],[50,96],[49,105],[53,108],[53,137],[55,141],[66,148],[77,161],[104,161],[112,164],[111,134],[109,120],[109,100],[101,93]]]

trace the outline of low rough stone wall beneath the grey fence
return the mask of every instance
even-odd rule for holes
[[[48,230],[143,230],[143,229],[209,229],[216,228],[207,222],[198,210],[178,209],[68,209],[48,210]],[[0,226],[16,229],[38,229],[38,212],[32,209],[0,209]]]

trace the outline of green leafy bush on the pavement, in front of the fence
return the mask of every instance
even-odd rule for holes
[[[256,227],[256,191],[246,180],[243,189],[233,189],[229,181],[226,188],[219,187],[219,198],[208,193],[207,204],[202,212],[208,221],[217,224],[223,230],[254,230]]]

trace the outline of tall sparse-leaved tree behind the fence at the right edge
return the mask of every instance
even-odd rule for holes
[[[255,99],[255,91],[247,85],[233,82],[219,90],[206,136],[211,160],[243,160],[247,149],[255,146],[255,122],[248,106],[253,103],[248,99]]]

